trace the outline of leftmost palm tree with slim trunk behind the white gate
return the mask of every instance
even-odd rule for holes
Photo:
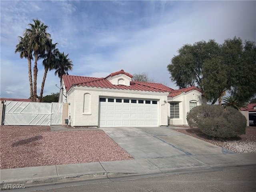
[[[31,60],[33,60],[32,50],[28,46],[29,36],[28,32],[24,32],[24,37],[18,36],[19,44],[16,45],[15,53],[20,53],[20,58],[28,59],[28,80],[30,85],[30,98],[33,98],[33,82],[32,82],[32,71],[31,71]]]

